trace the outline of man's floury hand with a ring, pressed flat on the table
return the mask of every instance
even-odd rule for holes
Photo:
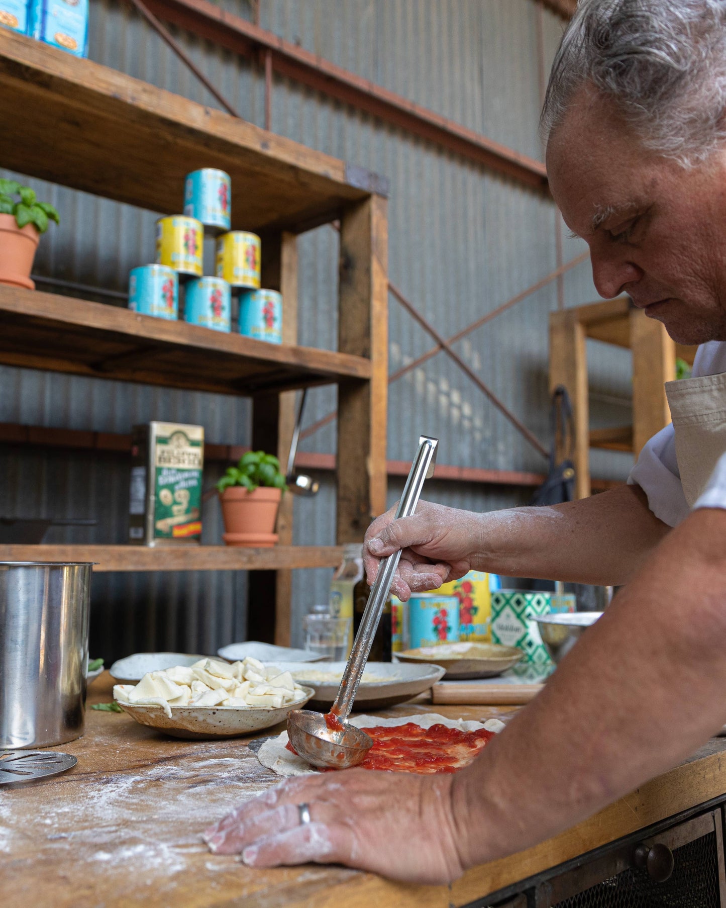
[[[348,769],[290,779],[241,804],[204,839],[251,867],[347,864],[392,880],[449,883],[456,850],[451,775]],[[301,824],[298,804],[308,804]]]

